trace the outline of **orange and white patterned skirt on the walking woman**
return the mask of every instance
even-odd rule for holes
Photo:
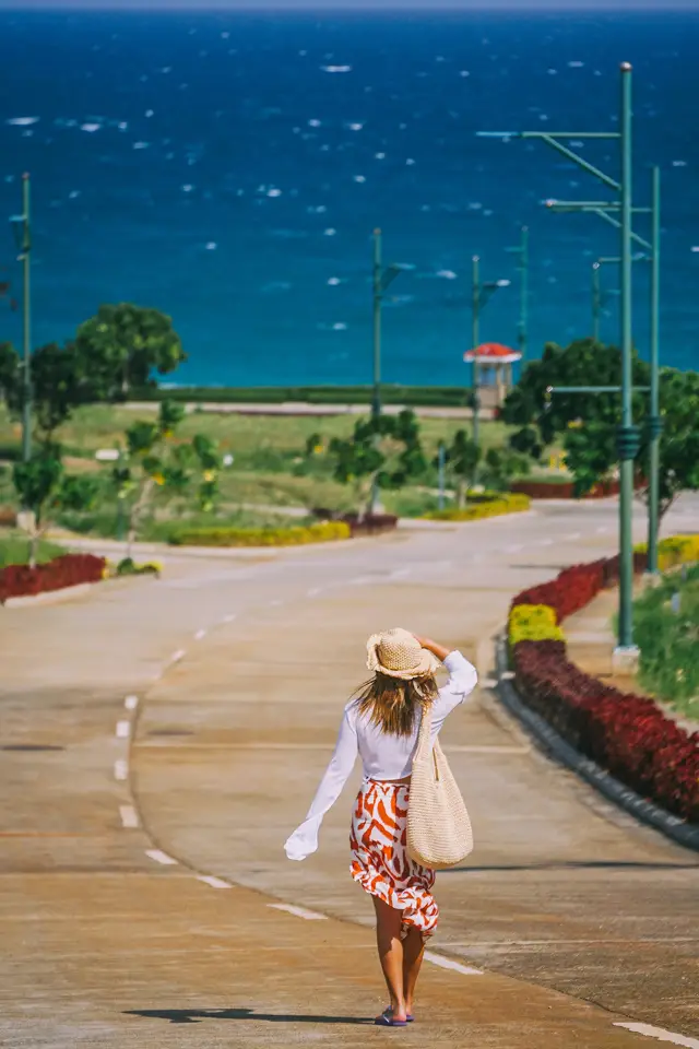
[[[367,893],[403,911],[403,935],[413,928],[427,938],[439,919],[435,872],[407,854],[408,797],[406,783],[364,781],[352,816],[350,871]]]

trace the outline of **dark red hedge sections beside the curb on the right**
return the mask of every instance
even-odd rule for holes
[[[616,577],[617,558],[576,565],[513,604],[549,604],[560,621]],[[699,732],[689,735],[651,699],[583,673],[565,641],[520,641],[512,660],[519,695],[559,735],[642,797],[699,823]]]

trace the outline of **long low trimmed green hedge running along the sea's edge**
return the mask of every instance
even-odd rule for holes
[[[370,386],[258,386],[258,387],[146,387],[132,390],[131,401],[186,401],[211,404],[283,404],[296,401],[305,404],[370,404]],[[471,403],[471,391],[460,386],[399,386],[381,387],[386,404],[407,404],[433,408],[463,408]]]

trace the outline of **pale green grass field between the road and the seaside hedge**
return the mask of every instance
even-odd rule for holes
[[[123,405],[95,405],[75,412],[58,434],[63,447],[69,472],[98,472],[105,478],[104,497],[98,509],[85,515],[62,514],[58,523],[70,530],[100,535],[116,534],[117,509],[114,493],[108,484],[109,468],[95,460],[100,448],[114,448],[123,444],[123,433],[139,419],[153,417],[157,405],[130,409]],[[333,510],[356,509],[354,492],[332,478],[332,458],[328,455],[305,459],[305,446],[312,434],[320,434],[322,443],[332,437],[348,436],[356,416],[337,415],[322,419],[305,416],[249,416],[235,413],[212,414],[192,412],[178,427],[178,436],[191,437],[201,433],[215,440],[221,450],[234,456],[233,465],[221,478],[221,502],[216,522],[234,527],[279,526],[283,518],[268,509],[256,507],[297,507],[308,510],[328,507]],[[454,433],[467,428],[459,420],[420,420],[423,446],[433,461],[440,440],[449,443]],[[484,448],[501,445],[508,428],[497,422],[481,425]],[[14,459],[20,450],[20,427],[0,408],[0,459]],[[388,512],[416,516],[437,508],[437,470],[430,468],[422,484],[407,486],[400,492],[387,492],[384,506]],[[14,503],[11,473],[8,465],[0,467],[0,504]],[[180,505],[181,510],[181,505]],[[143,539],[166,537],[173,507],[155,504],[155,515],[144,522]],[[211,521],[211,518],[208,519]],[[288,519],[284,519],[288,523]],[[191,519],[192,524],[197,523]],[[294,520],[292,523],[300,523]],[[201,521],[200,521],[201,523]]]

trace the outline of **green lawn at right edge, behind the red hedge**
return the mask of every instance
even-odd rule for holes
[[[685,578],[673,571],[645,591],[633,606],[633,629],[641,686],[699,719],[699,565]]]

